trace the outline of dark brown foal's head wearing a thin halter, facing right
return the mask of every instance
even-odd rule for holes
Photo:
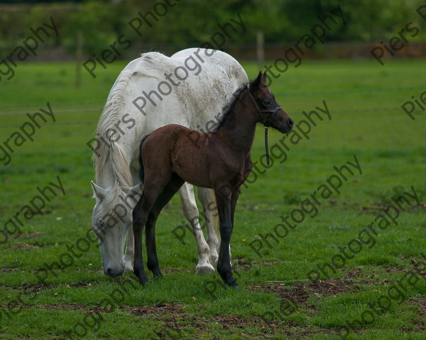
[[[266,72],[259,72],[258,77],[250,83],[249,96],[259,114],[259,121],[266,127],[271,126],[280,132],[289,132],[294,121],[275,101],[275,96],[265,85]]]

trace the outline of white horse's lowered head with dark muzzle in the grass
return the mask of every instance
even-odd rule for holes
[[[141,188],[138,185],[124,190],[118,186],[104,189],[93,182],[92,188],[96,198],[92,228],[99,240],[104,273],[115,278],[124,273],[126,234],[132,225],[132,211],[141,196]]]

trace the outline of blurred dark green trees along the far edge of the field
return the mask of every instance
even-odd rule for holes
[[[413,41],[425,41],[426,22],[416,13],[422,4],[420,0],[126,0],[8,4],[0,5],[0,52],[4,54],[21,44],[31,33],[30,28],[40,26],[50,16],[55,19],[60,34],[46,43],[63,47],[70,53],[77,49],[79,32],[84,37],[86,54],[102,52],[122,35],[152,49],[159,45],[200,45],[218,30],[218,24],[236,18],[237,13],[244,21],[245,32],[232,41],[234,45],[254,45],[259,31],[263,32],[266,45],[285,45],[309,33],[319,18],[338,6],[342,8],[345,23],[327,32],[326,41],[389,41],[393,36],[398,37],[398,32],[409,22],[420,30]],[[133,26],[141,24],[137,34],[129,24],[131,21]]]

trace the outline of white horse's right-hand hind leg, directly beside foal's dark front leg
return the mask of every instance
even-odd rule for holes
[[[209,261],[213,266],[217,266],[217,259],[219,255],[219,239],[217,239],[216,228],[214,222],[217,220],[217,216],[214,216],[212,212],[216,212],[215,202],[213,199],[213,191],[209,188],[197,188],[198,198],[204,208],[204,220],[207,225],[207,244],[209,244]]]

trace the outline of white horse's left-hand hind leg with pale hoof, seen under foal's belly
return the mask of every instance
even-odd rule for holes
[[[186,219],[190,222],[195,242],[197,242],[198,264],[197,268],[195,268],[195,273],[213,273],[214,267],[209,262],[209,245],[202,234],[197,204],[195,203],[194,189],[190,183],[185,183],[182,188],[180,188],[179,193],[183,215],[185,215]]]

